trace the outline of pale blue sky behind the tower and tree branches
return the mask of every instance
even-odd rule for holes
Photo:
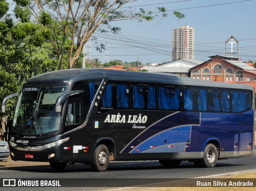
[[[185,25],[195,30],[194,59],[206,61],[213,55],[225,55],[225,41],[232,35],[239,42],[241,61],[256,61],[255,0],[138,0],[124,7],[128,6],[153,12],[156,7],[165,7],[169,16],[161,19],[159,14],[154,24],[137,20],[112,22],[111,26],[121,28],[117,35],[96,32],[98,42],[107,43],[108,61],[171,61],[172,29]],[[174,10],[186,17],[179,20],[172,15]],[[105,63],[106,51],[96,51],[92,42],[90,51],[91,59]]]

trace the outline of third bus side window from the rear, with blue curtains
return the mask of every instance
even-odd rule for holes
[[[185,110],[206,111],[206,89],[190,87],[184,89],[184,108]]]

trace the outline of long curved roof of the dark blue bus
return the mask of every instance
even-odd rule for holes
[[[250,85],[244,84],[218,83],[207,80],[180,77],[178,75],[168,73],[118,71],[110,69],[66,69],[52,71],[32,77],[28,79],[28,81],[26,81],[24,85],[64,85],[72,84],[76,81],[81,81],[85,79],[108,79],[117,81],[167,83],[175,85],[196,85],[207,87],[250,89],[253,91],[253,88]]]

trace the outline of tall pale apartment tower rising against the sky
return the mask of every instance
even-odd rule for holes
[[[172,30],[172,60],[194,59],[194,29],[189,26]]]

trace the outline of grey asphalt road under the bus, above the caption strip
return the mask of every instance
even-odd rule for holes
[[[90,165],[68,164],[63,171],[50,165],[1,167],[0,178],[194,178],[256,169],[256,155],[219,160],[214,168],[197,168],[182,161],[176,168],[165,168],[158,161],[110,162],[106,172],[93,172]]]

